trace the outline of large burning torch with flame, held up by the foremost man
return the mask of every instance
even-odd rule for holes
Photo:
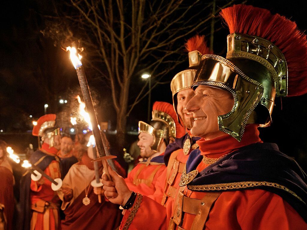
[[[85,105],[86,105],[86,108],[87,108],[87,112],[89,114],[89,118],[91,120],[92,131],[93,131],[93,134],[94,134],[96,148],[98,150],[99,157],[106,157],[106,156],[110,155],[110,153],[107,149],[106,141],[104,140],[104,138],[102,138],[99,127],[98,127],[98,121],[97,121],[93,101],[92,101],[92,98],[91,98],[91,93],[90,93],[90,90],[89,90],[89,87],[88,87],[88,84],[87,84],[87,79],[86,79],[86,76],[85,76],[84,68],[83,68],[82,63],[80,61],[82,56],[80,54],[78,54],[78,56],[77,56],[77,50],[76,50],[75,47],[67,47],[66,51],[68,51],[68,50],[70,51],[70,59],[72,61],[73,66],[75,67],[77,75],[78,75],[78,79],[79,79],[81,91],[82,91],[82,94],[83,94],[84,102],[85,102]],[[107,165],[105,165],[104,162],[105,161],[103,160],[103,167],[104,167],[105,171],[107,172],[108,168],[107,168]],[[114,162],[110,158],[107,159],[107,162],[109,163],[109,165],[111,166],[111,168],[114,171],[117,171],[116,167],[114,165]]]

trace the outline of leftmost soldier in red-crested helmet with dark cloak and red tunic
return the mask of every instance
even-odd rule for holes
[[[60,128],[56,128],[56,114],[46,114],[37,120],[33,136],[41,138],[41,148],[29,158],[31,164],[41,168],[51,178],[60,178],[60,163],[57,152],[60,149]],[[51,182],[45,177],[39,181],[31,179],[27,172],[21,178],[20,187],[20,229],[59,229],[59,201]]]

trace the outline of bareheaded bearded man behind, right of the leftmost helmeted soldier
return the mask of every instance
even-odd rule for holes
[[[70,167],[78,162],[78,159],[72,154],[73,147],[72,138],[69,135],[62,135],[60,151],[57,153],[60,159],[62,179],[64,179]]]

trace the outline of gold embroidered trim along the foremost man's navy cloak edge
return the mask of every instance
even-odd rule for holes
[[[270,186],[278,189],[282,189],[287,191],[288,193],[295,196],[297,199],[302,201],[306,204],[301,197],[297,196],[293,191],[288,189],[285,186],[282,186],[277,183],[266,182],[266,181],[247,181],[247,182],[235,182],[235,183],[225,183],[225,184],[211,184],[211,185],[188,185],[189,190],[193,191],[214,191],[214,190],[228,190],[228,189],[243,189],[243,188],[250,188],[250,187],[257,187],[257,186]]]

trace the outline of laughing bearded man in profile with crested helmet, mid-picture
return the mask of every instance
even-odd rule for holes
[[[166,146],[176,137],[176,113],[167,102],[154,102],[152,121],[139,121],[138,146],[143,161],[125,179],[128,187],[144,195],[155,192],[157,178],[165,171],[163,161]],[[178,122],[177,122],[178,124]]]

